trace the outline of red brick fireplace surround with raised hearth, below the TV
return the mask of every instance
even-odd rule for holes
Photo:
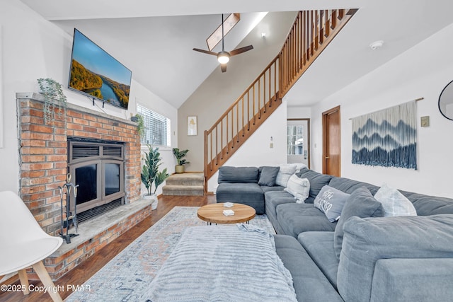
[[[124,146],[124,217],[108,219],[107,228],[84,232],[76,242],[63,243],[59,251],[45,260],[52,279],[58,279],[94,252],[151,214],[151,207],[138,207],[140,200],[140,139],[134,122],[102,112],[67,104],[66,117],[55,115],[45,124],[43,101],[38,93],[17,93],[18,141],[21,198],[46,233],[59,235],[61,205],[58,186],[64,185],[68,169],[68,138],[87,141],[112,141]],[[66,122],[64,122],[64,118]],[[133,207],[132,207],[133,206]],[[86,221],[88,223],[88,221]],[[88,225],[88,224],[87,224]],[[33,279],[30,278],[30,279]]]

